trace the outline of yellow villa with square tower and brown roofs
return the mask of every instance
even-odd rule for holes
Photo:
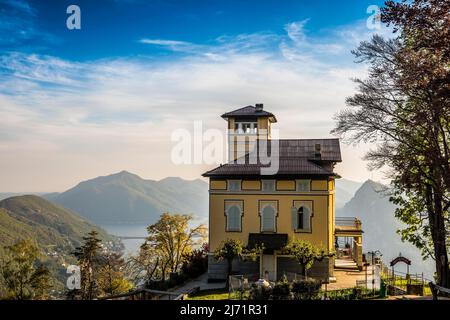
[[[222,118],[228,122],[230,162],[203,174],[210,179],[210,251],[227,238],[249,247],[263,244],[265,250],[256,262],[235,261],[233,271],[270,280],[301,273],[300,265],[280,251],[290,238],[334,252],[339,235],[335,233],[334,187],[338,175],[333,169],[341,161],[339,140],[272,140],[271,125],[277,119],[262,104]],[[276,170],[267,173],[271,166]],[[361,232],[345,232],[343,236],[355,239],[354,251],[360,255]],[[328,280],[333,267],[334,259],[325,258],[308,274]],[[211,255],[208,276],[225,279],[225,263]]]

